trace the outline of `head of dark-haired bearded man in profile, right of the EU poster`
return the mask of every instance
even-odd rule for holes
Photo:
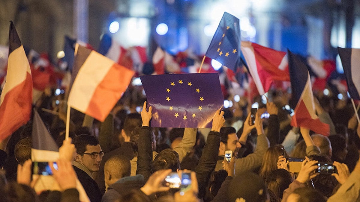
[[[220,147],[219,147],[219,155],[225,155],[226,150],[233,151],[233,156],[237,156],[239,149],[241,148],[241,144],[239,142],[239,138],[236,135],[235,128],[222,127],[220,129]]]

